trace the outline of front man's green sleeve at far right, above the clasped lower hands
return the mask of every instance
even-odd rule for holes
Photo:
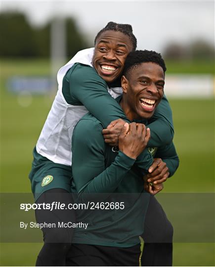
[[[178,168],[179,158],[173,142],[163,148],[159,148],[155,154],[155,158],[161,158],[164,162],[166,162],[170,172],[169,177],[171,177]]]

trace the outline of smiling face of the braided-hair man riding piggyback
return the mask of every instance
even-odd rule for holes
[[[103,80],[112,83],[122,74],[131,50],[132,43],[127,35],[105,31],[96,40],[92,65]]]

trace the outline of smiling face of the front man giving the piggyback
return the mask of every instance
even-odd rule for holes
[[[128,78],[128,79],[127,79]],[[122,108],[129,120],[149,119],[164,95],[165,74],[161,66],[146,62],[122,77]]]

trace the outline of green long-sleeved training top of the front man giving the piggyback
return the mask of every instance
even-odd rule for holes
[[[74,129],[72,191],[78,195],[77,203],[88,205],[87,210],[77,210],[77,222],[89,225],[75,229],[73,243],[129,247],[139,243],[149,201],[143,189],[142,163],[106,144],[102,130],[102,123],[89,113]],[[149,148],[155,157],[166,159],[173,174],[178,166],[173,144],[156,149]],[[112,208],[119,205],[110,209],[110,203]],[[119,208],[121,204],[124,209]]]

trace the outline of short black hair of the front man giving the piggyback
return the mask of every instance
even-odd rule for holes
[[[128,73],[136,66],[140,65],[144,62],[154,62],[162,67],[164,73],[166,72],[167,68],[162,58],[161,54],[155,51],[149,50],[136,50],[131,51],[126,59],[123,75],[128,75]]]

